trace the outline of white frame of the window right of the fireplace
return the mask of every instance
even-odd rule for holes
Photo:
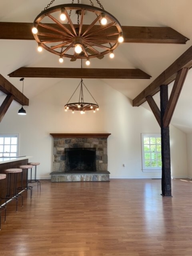
[[[161,134],[160,133],[142,133],[141,134],[141,144],[142,144],[142,171],[143,172],[161,172],[162,171],[162,167],[154,167],[154,166],[152,166],[152,167],[147,167],[147,166],[145,166],[145,158],[144,158],[144,156],[145,156],[145,152],[144,152],[144,138],[145,137],[152,137],[152,138],[154,138],[154,137],[156,137],[156,138],[161,138]],[[155,145],[157,145],[157,144],[155,144]],[[151,152],[151,151],[150,151]],[[158,152],[158,151],[156,151],[156,152]]]

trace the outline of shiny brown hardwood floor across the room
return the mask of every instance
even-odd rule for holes
[[[191,256],[192,180],[41,181],[8,204],[1,256]]]

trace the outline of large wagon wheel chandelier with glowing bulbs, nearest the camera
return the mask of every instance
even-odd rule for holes
[[[102,59],[105,54],[114,57],[113,51],[123,42],[122,27],[118,20],[105,11],[100,1],[100,8],[90,5],[60,4],[50,7],[52,0],[34,20],[32,33],[38,43],[38,51],[45,50],[63,58],[85,59],[90,64],[90,58]],[[89,22],[88,22],[89,20]],[[49,23],[51,22],[51,23]],[[89,24],[85,24],[88,22]]]

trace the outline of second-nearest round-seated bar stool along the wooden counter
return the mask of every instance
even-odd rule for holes
[[[8,199],[15,199],[16,200],[16,212],[17,212],[18,196],[22,197],[22,206],[23,206],[23,196],[22,196],[22,194],[18,194],[18,188],[17,188],[17,174],[19,172],[22,172],[22,169],[20,169],[20,168],[11,168],[11,169],[4,170],[4,172],[8,175],[8,178],[7,178],[7,194],[6,194],[6,197],[4,198],[6,200],[5,201],[5,206],[7,204]],[[13,183],[11,182],[12,179],[13,179]]]

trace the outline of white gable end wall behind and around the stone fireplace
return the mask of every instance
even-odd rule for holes
[[[111,178],[160,178],[160,172],[142,172],[141,133],[160,133],[154,115],[142,106],[133,108],[123,94],[95,79],[85,79],[84,83],[98,101],[99,112],[85,115],[64,112],[64,105],[79,82],[80,79],[64,79],[34,98],[28,96],[30,105],[24,107],[27,115],[17,114],[20,106],[10,108],[0,124],[0,133],[19,133],[20,155],[33,156],[30,161],[40,162],[38,178],[48,179],[52,172],[50,133],[111,133],[108,138]],[[187,176],[185,134],[170,126],[170,138],[172,176]]]

